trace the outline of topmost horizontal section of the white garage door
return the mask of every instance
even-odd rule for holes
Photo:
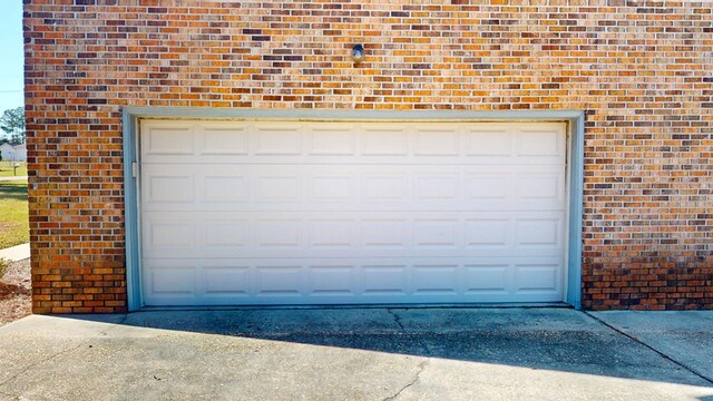
[[[145,120],[140,143],[162,164],[561,164],[564,125],[536,126]]]

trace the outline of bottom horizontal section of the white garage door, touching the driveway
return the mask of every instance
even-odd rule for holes
[[[413,263],[346,258],[285,263],[166,258],[149,261],[147,302],[302,304],[545,302],[561,296],[557,257],[424,258]],[[319,300],[319,301],[315,301]],[[417,301],[413,301],[417,300]]]

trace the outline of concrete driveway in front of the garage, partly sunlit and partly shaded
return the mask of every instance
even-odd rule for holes
[[[35,315],[0,346],[0,400],[713,401],[713,312]]]

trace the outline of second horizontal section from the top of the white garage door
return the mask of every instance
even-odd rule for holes
[[[564,168],[143,165],[144,211],[564,211]]]

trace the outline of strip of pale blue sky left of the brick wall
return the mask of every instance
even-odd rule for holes
[[[0,11],[0,114],[25,105],[22,0],[2,0]]]

